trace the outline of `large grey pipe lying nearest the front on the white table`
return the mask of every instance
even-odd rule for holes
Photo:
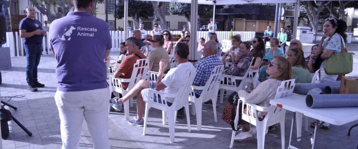
[[[308,108],[333,108],[358,106],[358,94],[308,94]]]

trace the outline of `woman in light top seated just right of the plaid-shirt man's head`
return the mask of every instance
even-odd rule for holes
[[[223,64],[231,63],[234,61],[235,56],[239,53],[239,46],[241,44],[241,38],[239,36],[231,37],[231,47],[228,51],[222,56],[221,61]]]

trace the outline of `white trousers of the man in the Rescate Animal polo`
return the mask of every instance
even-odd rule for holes
[[[108,88],[86,91],[57,91],[55,101],[61,120],[62,149],[77,149],[83,117],[94,149],[109,149]]]

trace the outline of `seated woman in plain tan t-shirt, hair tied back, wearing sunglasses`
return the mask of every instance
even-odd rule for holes
[[[148,70],[158,72],[160,60],[165,59],[168,64],[164,69],[164,73],[166,73],[170,69],[170,61],[169,61],[168,53],[163,48],[164,45],[163,35],[154,35],[151,42],[152,42],[151,46],[154,49],[151,50],[148,55],[148,60],[149,60]]]

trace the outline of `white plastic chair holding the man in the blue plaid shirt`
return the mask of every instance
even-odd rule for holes
[[[219,86],[219,78],[224,70],[224,65],[215,66],[211,71],[208,81],[205,86],[195,86],[192,85],[192,91],[189,94],[189,101],[192,102],[192,115],[197,115],[197,125],[198,130],[201,130],[202,126],[202,106],[203,102],[211,99],[213,101],[213,110],[214,110],[214,121],[217,121],[216,118],[216,101],[218,99],[218,86]],[[202,90],[199,98],[197,98],[194,94],[195,90]]]

